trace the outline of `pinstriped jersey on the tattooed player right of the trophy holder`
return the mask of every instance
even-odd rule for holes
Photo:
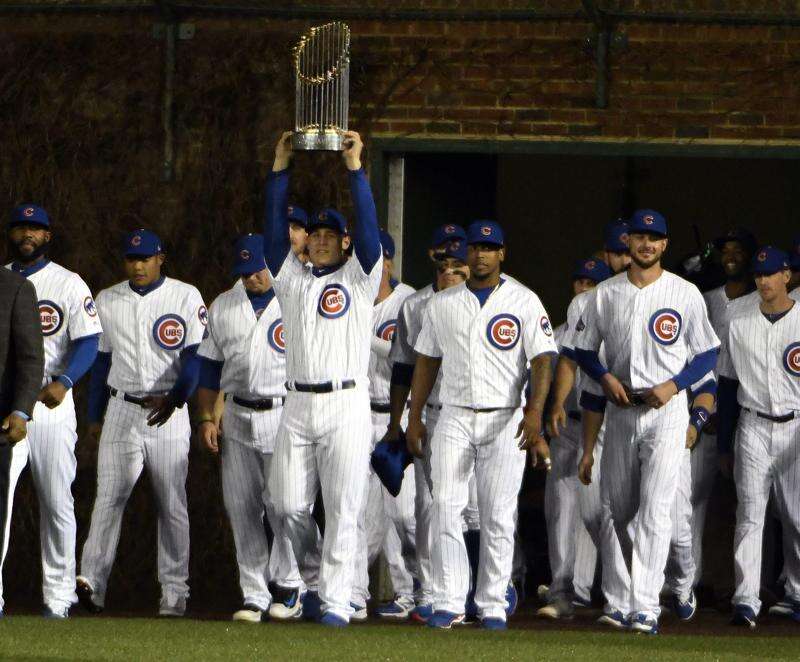
[[[473,408],[518,407],[528,362],[557,352],[539,297],[512,280],[501,281],[483,307],[465,284],[438,292],[415,349],[444,359],[442,403]]]

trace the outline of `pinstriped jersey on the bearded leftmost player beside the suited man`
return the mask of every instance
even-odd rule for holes
[[[29,275],[28,280],[36,288],[39,300],[47,383],[66,369],[70,342],[102,333],[103,327],[92,293],[78,274],[49,262]]]

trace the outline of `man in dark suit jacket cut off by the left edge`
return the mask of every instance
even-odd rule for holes
[[[8,550],[14,487],[28,461],[25,430],[43,376],[36,290],[22,276],[0,269],[0,615],[2,567]]]

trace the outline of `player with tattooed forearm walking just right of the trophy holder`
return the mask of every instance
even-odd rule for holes
[[[500,226],[473,223],[467,243],[467,284],[433,296],[425,309],[406,435],[409,450],[420,457],[426,437],[422,411],[441,365],[443,407],[430,442],[435,611],[428,625],[447,629],[464,618],[470,573],[461,517],[474,472],[481,519],[475,604],[484,628],[505,629],[517,494],[525,468],[521,449],[533,449],[534,461],[548,456],[540,432],[549,354],[556,345],[539,298],[501,278]],[[528,365],[532,396],[520,421]]]

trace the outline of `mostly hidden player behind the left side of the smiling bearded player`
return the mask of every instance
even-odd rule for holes
[[[578,296],[588,292],[610,276],[608,265],[602,260],[580,260],[572,273],[573,294]],[[564,351],[564,337],[569,333],[568,328],[567,323],[555,330],[555,340],[560,352]],[[570,355],[574,356],[574,353],[568,349],[564,360],[572,361]],[[574,378],[568,380],[568,384],[574,384]],[[551,396],[551,411],[557,413],[550,416],[552,470],[547,475],[544,508],[552,582],[547,594],[548,604],[537,612],[538,616],[553,619],[571,617],[574,612],[573,602],[578,596],[582,604],[591,604],[596,562],[596,554],[592,558],[591,554],[582,551],[581,556],[588,559],[591,567],[586,570],[577,567],[579,546],[588,542],[594,551],[594,545],[580,518],[578,503],[580,484],[577,472],[583,451],[578,397],[574,388],[567,388],[566,394],[564,390],[562,383],[555,384]],[[580,586],[578,574],[582,574],[583,584]]]

